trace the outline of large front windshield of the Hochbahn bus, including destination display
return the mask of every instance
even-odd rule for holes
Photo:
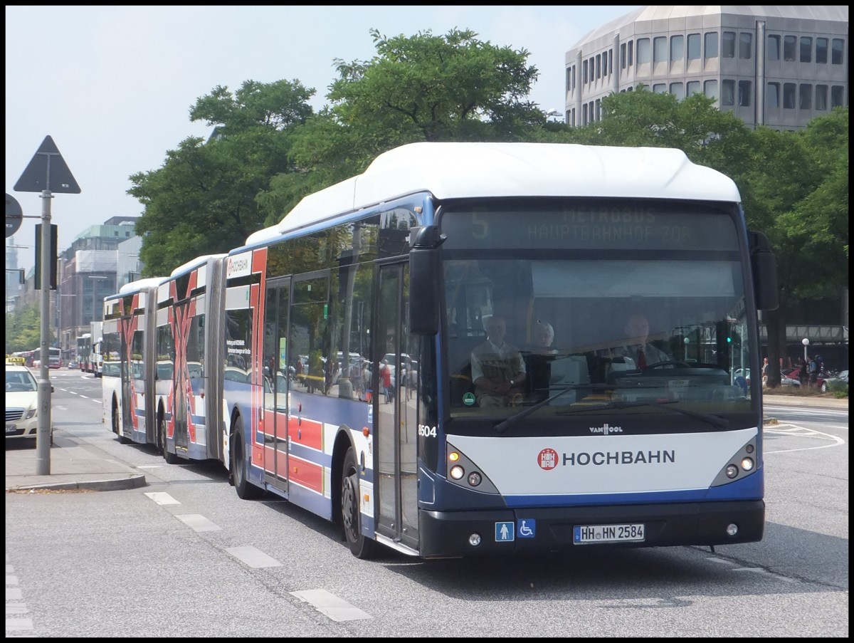
[[[454,431],[534,405],[525,434],[548,418],[589,424],[597,410],[749,413],[737,216],[731,205],[649,201],[447,208]]]

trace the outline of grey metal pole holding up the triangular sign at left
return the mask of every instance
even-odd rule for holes
[[[38,427],[36,428],[36,475],[50,475],[50,190],[42,190],[41,350],[38,375]]]

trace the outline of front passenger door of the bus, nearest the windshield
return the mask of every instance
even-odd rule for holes
[[[409,264],[380,268],[373,371],[379,377],[374,396],[374,463],[377,533],[418,549],[418,391],[412,373],[409,335]],[[387,362],[387,364],[383,363]],[[380,369],[391,369],[391,388],[383,390]]]

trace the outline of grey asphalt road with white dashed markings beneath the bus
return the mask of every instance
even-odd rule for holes
[[[7,636],[849,634],[847,406],[766,400],[759,543],[360,561],[329,522],[237,498],[219,466],[169,466],[120,445],[101,422],[97,380],[51,380],[63,430],[149,485],[7,493]]]

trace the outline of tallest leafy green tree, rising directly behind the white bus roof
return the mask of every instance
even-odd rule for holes
[[[336,59],[330,108],[295,131],[291,156],[300,172],[278,175],[260,194],[267,225],[302,197],[360,174],[398,145],[529,140],[546,123],[527,99],[539,76],[527,64],[527,50],[483,42],[470,30],[394,38],[370,33],[377,56]]]

